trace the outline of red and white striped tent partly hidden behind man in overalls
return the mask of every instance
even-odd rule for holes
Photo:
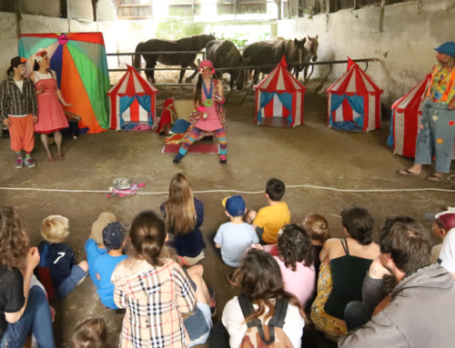
[[[422,115],[423,94],[430,88],[431,74],[392,105],[392,124],[388,144],[393,153],[415,157],[416,140]]]

